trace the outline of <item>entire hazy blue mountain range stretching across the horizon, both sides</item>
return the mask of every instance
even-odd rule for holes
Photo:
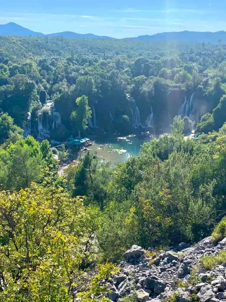
[[[0,25],[0,35],[9,36],[33,36],[33,37],[59,37],[64,38],[90,38],[90,39],[114,39],[107,36],[97,36],[94,34],[77,34],[72,31],[63,31],[61,33],[54,33],[44,35],[35,31],[30,31],[23,26],[10,22]],[[177,41],[177,42],[205,42],[218,43],[220,40],[226,42],[226,31],[217,32],[202,32],[202,31],[179,31],[166,32],[154,35],[145,35],[134,38],[125,38],[123,40],[150,40],[150,41]]]

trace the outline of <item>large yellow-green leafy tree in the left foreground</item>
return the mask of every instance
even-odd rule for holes
[[[0,300],[71,302],[82,266],[93,260],[98,217],[62,189],[2,191]]]

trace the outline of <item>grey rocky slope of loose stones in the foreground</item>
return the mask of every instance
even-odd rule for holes
[[[177,249],[148,258],[140,246],[134,245],[124,253],[120,273],[108,281],[109,298],[117,302],[135,292],[140,302],[226,301],[226,263],[211,271],[200,267],[197,270],[201,256],[218,255],[224,249],[226,238],[215,245],[207,237],[194,246],[181,243]]]

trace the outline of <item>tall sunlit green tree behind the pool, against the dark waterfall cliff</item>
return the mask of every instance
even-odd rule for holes
[[[85,95],[82,95],[76,100],[77,110],[72,111],[71,113],[71,122],[74,128],[74,131],[78,131],[78,136],[81,137],[81,131],[86,130],[88,127],[88,117],[91,117],[92,111],[88,106],[88,98]]]

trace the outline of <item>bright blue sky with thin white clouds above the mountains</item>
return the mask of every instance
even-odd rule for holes
[[[115,38],[164,31],[226,30],[225,0],[8,0],[0,24],[33,31],[93,33]]]

